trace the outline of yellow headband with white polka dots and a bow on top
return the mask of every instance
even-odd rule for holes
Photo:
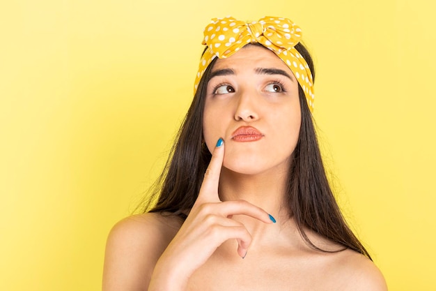
[[[315,98],[312,73],[306,60],[295,49],[301,36],[301,29],[286,18],[263,17],[257,22],[243,22],[233,17],[212,19],[204,29],[203,45],[208,47],[198,66],[194,92],[215,57],[224,59],[238,52],[247,43],[260,43],[277,54],[290,68],[302,87],[312,112]]]

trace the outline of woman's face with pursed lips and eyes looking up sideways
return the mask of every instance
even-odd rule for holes
[[[212,152],[224,139],[224,167],[242,174],[287,172],[301,112],[298,83],[273,52],[247,45],[217,59],[205,98],[203,135]]]

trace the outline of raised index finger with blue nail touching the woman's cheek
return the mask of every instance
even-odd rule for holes
[[[218,202],[219,174],[224,161],[224,140],[220,137],[210,158],[208,169],[204,174],[197,200],[202,202]]]

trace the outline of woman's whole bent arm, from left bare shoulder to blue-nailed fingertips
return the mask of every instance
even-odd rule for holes
[[[242,214],[264,223],[272,221],[266,211],[247,201],[219,200],[223,159],[221,140],[206,170],[198,198],[180,230],[168,221],[171,218],[160,214],[134,216],[114,227],[107,242],[103,291],[185,290],[194,271],[228,239],[238,241],[235,252],[244,257],[251,235],[242,223],[231,217]]]

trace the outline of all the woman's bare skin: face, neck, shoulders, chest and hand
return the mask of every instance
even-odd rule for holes
[[[290,76],[259,74],[258,68]],[[233,73],[208,84],[203,126],[213,154],[194,207],[185,222],[141,214],[115,225],[103,290],[387,290],[363,255],[338,251],[341,246],[306,230],[314,244],[338,252],[310,248],[283,207],[298,135],[283,137],[281,127],[298,132],[300,126],[289,68],[272,52],[247,47],[218,60],[214,70],[221,69]],[[238,142],[233,132],[240,126],[254,126],[263,137]],[[219,137],[224,144],[215,147]]]

